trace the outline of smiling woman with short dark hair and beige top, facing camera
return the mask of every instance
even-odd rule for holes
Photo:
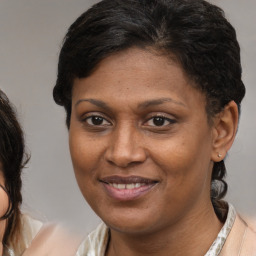
[[[71,25],[54,99],[103,220],[77,255],[255,255],[222,200],[245,94],[236,33],[203,0],[103,0]]]

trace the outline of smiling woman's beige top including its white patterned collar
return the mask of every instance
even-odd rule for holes
[[[256,256],[256,233],[229,204],[227,220],[205,256]],[[102,223],[80,245],[76,256],[105,256],[109,229]]]

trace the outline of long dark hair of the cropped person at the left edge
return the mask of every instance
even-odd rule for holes
[[[10,242],[14,245],[20,242],[21,170],[26,161],[23,132],[17,121],[14,107],[0,90],[0,162],[10,201],[8,214],[3,216],[7,218],[3,238],[3,244],[6,246]]]

